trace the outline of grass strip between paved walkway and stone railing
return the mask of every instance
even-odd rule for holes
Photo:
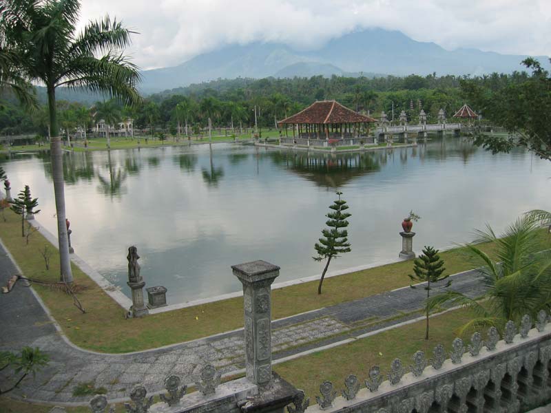
[[[467,310],[455,310],[430,319],[428,340],[424,339],[425,321],[418,321],[343,346],[276,364],[273,370],[304,390],[312,405],[315,404],[315,396],[320,394],[320,384],[325,380],[333,382],[335,390],[340,392],[340,389],[344,389],[346,376],[355,374],[364,388],[364,380],[367,379],[372,366],[380,366],[382,374],[386,377],[391,362],[396,358],[402,359],[404,368],[409,370],[410,364],[413,363],[413,354],[417,350],[424,351],[429,359],[433,356],[433,348],[437,344],[443,344],[447,353],[451,349],[453,339],[457,337],[455,330],[466,324],[470,318]],[[485,336],[486,332],[483,335]]]

